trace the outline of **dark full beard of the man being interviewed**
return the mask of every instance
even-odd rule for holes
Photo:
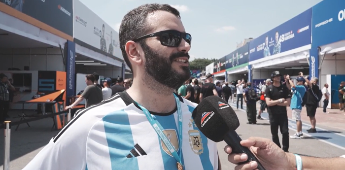
[[[145,54],[145,74],[151,76],[158,83],[171,89],[176,89],[190,78],[189,67],[181,67],[182,72],[172,68],[173,61],[176,58],[188,57],[189,59],[188,53],[177,52],[167,58],[151,49],[145,42],[140,43],[140,45]]]

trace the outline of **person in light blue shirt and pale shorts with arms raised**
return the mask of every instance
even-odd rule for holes
[[[291,91],[292,91],[292,97],[291,97],[291,103],[290,103],[290,108],[292,110],[292,119],[296,121],[297,124],[297,132],[296,134],[290,136],[290,138],[294,139],[300,139],[303,138],[303,133],[302,133],[302,121],[301,121],[301,111],[302,111],[302,102],[303,102],[303,97],[306,94],[306,88],[304,87],[305,82],[309,82],[309,80],[304,78],[303,76],[299,76],[296,78],[297,80],[297,85],[295,85],[289,76],[286,76],[286,85],[291,86]]]

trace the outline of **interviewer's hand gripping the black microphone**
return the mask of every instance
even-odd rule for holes
[[[241,145],[249,147],[250,151],[258,158],[260,163],[266,170],[291,170],[296,169],[296,161],[293,154],[285,153],[274,142],[267,138],[249,137],[242,140]],[[248,159],[246,154],[231,154],[230,146],[224,148],[228,156],[228,160],[233,164],[239,164]],[[255,161],[243,165],[238,165],[235,170],[257,170]]]

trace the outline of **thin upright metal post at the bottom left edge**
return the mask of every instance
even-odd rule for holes
[[[9,148],[11,143],[11,121],[4,122],[4,161],[3,170],[9,170]]]

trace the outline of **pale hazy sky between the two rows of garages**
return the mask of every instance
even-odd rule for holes
[[[167,3],[180,11],[192,35],[191,60],[219,59],[244,38],[256,38],[322,0],[80,0],[118,32],[123,16],[145,3]],[[97,2],[97,3],[96,3]]]

